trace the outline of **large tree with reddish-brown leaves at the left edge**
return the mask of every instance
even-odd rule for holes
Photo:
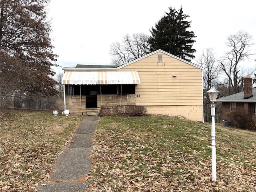
[[[1,1],[1,95],[55,95],[56,65],[46,5],[49,0]]]

